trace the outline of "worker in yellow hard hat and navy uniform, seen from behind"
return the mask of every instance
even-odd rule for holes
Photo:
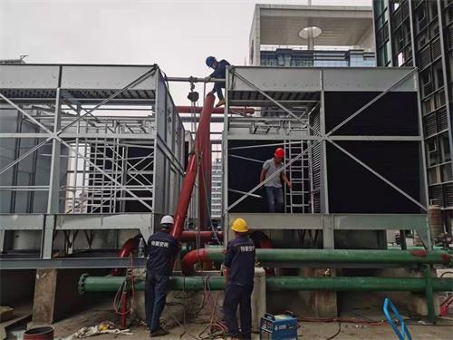
[[[255,245],[248,237],[245,219],[235,219],[231,229],[236,238],[228,242],[224,266],[226,267],[226,291],[224,315],[228,335],[238,339],[252,338],[251,296],[254,289]],[[236,310],[239,306],[240,331],[237,326]]]

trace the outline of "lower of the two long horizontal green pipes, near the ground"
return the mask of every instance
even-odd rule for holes
[[[203,290],[207,277],[171,277],[172,290]],[[90,277],[83,274],[79,280],[79,292],[115,292],[124,277]],[[223,290],[225,277],[209,277],[211,290]],[[268,290],[374,290],[374,291],[425,291],[427,281],[419,277],[266,277]],[[144,290],[143,280],[137,278],[136,290]],[[453,291],[453,278],[432,278],[434,291]]]

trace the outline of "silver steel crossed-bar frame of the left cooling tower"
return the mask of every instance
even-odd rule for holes
[[[30,66],[30,65],[26,65],[26,66]],[[33,67],[33,65],[32,65],[32,67]],[[92,119],[94,119],[94,121],[100,121],[100,119],[98,119],[97,117],[92,115],[92,112],[94,112],[97,109],[101,109],[102,105],[105,105],[105,104],[109,103],[112,99],[114,99],[116,96],[120,95],[122,92],[125,92],[125,91],[127,91],[127,90],[129,90],[131,88],[134,88],[135,86],[140,85],[140,83],[142,83],[143,81],[147,80],[149,78],[149,76],[154,75],[155,73],[157,73],[158,76],[157,77],[153,77],[153,79],[155,79],[157,83],[159,83],[159,82],[162,83],[161,91],[160,91],[160,99],[161,100],[165,99],[165,104],[164,104],[164,102],[160,102],[160,103],[158,102],[158,96],[157,95],[155,97],[155,103],[156,103],[156,105],[160,105],[162,107],[162,112],[164,112],[164,114],[166,115],[166,117],[163,118],[165,121],[168,120],[168,118],[167,118],[167,112],[168,111],[172,110],[174,112],[174,114],[176,114],[176,115],[171,117],[171,120],[174,121],[174,122],[171,124],[171,126],[169,125],[168,129],[170,129],[170,130],[171,129],[176,129],[178,132],[180,132],[181,135],[179,136],[179,140],[182,139],[181,143],[183,143],[184,142],[184,130],[183,130],[183,127],[182,127],[182,121],[180,121],[180,119],[177,116],[175,105],[172,102],[171,97],[169,97],[169,89],[168,89],[167,85],[164,83],[163,77],[159,73],[159,69],[156,66],[151,66],[150,68],[147,69],[147,71],[145,73],[141,74],[140,77],[134,79],[132,82],[128,83],[126,86],[122,87],[120,90],[114,92],[111,96],[109,96],[109,98],[102,100],[98,104],[94,104],[94,106],[92,106],[90,109],[84,109],[82,107],[82,103],[77,102],[77,100],[75,100],[75,99],[68,98],[69,94],[68,94],[68,92],[65,89],[63,89],[63,86],[61,84],[62,83],[62,67],[65,67],[65,66],[60,66],[59,67],[59,72],[58,72],[58,76],[57,76],[57,78],[58,78],[57,86],[58,87],[56,88],[56,94],[57,95],[56,95],[55,104],[54,104],[54,108],[53,108],[53,115],[51,114],[49,116],[49,118],[53,119],[53,131],[47,129],[47,127],[45,125],[43,125],[39,121],[39,118],[38,118],[38,121],[36,121],[34,119],[34,116],[32,116],[31,114],[28,114],[28,112],[24,111],[19,105],[14,103],[12,100],[8,99],[2,93],[2,91],[0,90],[0,101],[3,100],[4,102],[9,103],[15,110],[17,110],[17,112],[20,112],[20,114],[24,114],[24,116],[27,118],[28,121],[31,121],[32,123],[34,123],[34,125],[37,127],[37,129],[40,129],[40,131],[42,131],[42,133],[38,133],[38,132],[35,132],[35,133],[11,133],[11,132],[0,133],[0,138],[14,138],[14,139],[22,139],[22,138],[37,139],[37,138],[39,138],[39,139],[45,139],[45,140],[41,141],[40,143],[38,143],[37,145],[34,145],[34,147],[32,149],[30,149],[29,151],[26,151],[19,158],[16,158],[15,160],[13,160],[4,169],[0,170],[0,172],[4,173],[6,170],[10,170],[12,167],[14,167],[15,164],[17,164],[21,160],[24,160],[26,157],[34,154],[35,151],[38,151],[43,145],[47,144],[48,142],[52,142],[52,144],[53,144],[53,151],[52,151],[52,153],[50,155],[51,163],[52,163],[52,168],[51,168],[51,173],[50,173],[50,178],[51,178],[50,185],[48,186],[48,188],[44,188],[44,189],[48,189],[51,194],[49,195],[49,204],[48,204],[47,214],[44,215],[43,222],[34,224],[33,228],[20,228],[20,227],[18,228],[18,227],[14,227],[14,225],[13,226],[11,226],[11,225],[8,226],[8,225],[5,225],[4,223],[0,224],[0,233],[1,233],[0,237],[2,237],[2,239],[4,238],[5,230],[20,230],[20,229],[22,229],[22,230],[24,230],[24,229],[26,229],[26,230],[28,230],[28,229],[43,230],[42,247],[41,247],[41,257],[42,258],[50,258],[52,256],[53,233],[55,231],[57,231],[57,230],[64,229],[64,228],[61,228],[58,225],[58,220],[59,219],[55,218],[55,216],[56,216],[55,213],[58,213],[60,211],[59,210],[59,194],[60,194],[60,188],[59,188],[60,187],[60,183],[59,183],[60,166],[59,166],[59,162],[60,162],[61,157],[60,157],[59,151],[61,150],[61,146],[64,145],[64,146],[66,146],[68,148],[68,150],[73,151],[74,154],[75,154],[75,158],[76,159],[81,159],[81,160],[84,160],[84,162],[86,162],[87,164],[92,164],[92,166],[97,168],[97,170],[100,173],[102,173],[102,175],[105,176],[106,178],[111,177],[107,171],[104,171],[103,169],[98,167],[96,164],[94,164],[92,162],[92,160],[90,159],[90,156],[87,156],[86,153],[82,154],[81,152],[79,152],[77,147],[74,149],[72,147],[72,145],[70,145],[70,143],[67,142],[68,139],[73,139],[76,144],[77,144],[77,142],[81,142],[81,140],[83,138],[88,138],[88,139],[92,138],[92,139],[96,139],[96,140],[98,140],[99,138],[108,138],[108,139],[112,139],[112,141],[116,141],[116,144],[118,144],[118,142],[121,139],[128,139],[128,140],[133,139],[133,140],[139,140],[139,141],[141,139],[142,140],[148,140],[148,141],[149,140],[153,140],[153,144],[154,144],[153,145],[153,149],[157,150],[156,149],[156,144],[157,144],[159,146],[160,152],[164,155],[163,157],[169,159],[169,161],[172,164],[172,167],[176,170],[177,179],[175,181],[175,184],[177,186],[180,185],[180,179],[178,180],[178,177],[180,178],[183,175],[183,168],[182,168],[182,165],[180,163],[182,161],[182,157],[183,157],[182,144],[176,146],[175,150],[173,150],[173,148],[169,148],[169,145],[167,145],[168,142],[173,143],[174,141],[169,139],[168,142],[165,142],[162,138],[160,138],[160,135],[159,135],[159,133],[158,133],[158,131],[156,129],[156,126],[151,127],[151,129],[154,129],[154,132],[151,131],[151,134],[148,134],[148,133],[147,134],[143,134],[143,132],[142,132],[142,134],[137,134],[137,133],[113,133],[114,131],[112,131],[111,128],[109,126],[107,126],[107,125],[106,125],[106,129],[110,130],[112,133],[107,133],[107,130],[104,133],[102,133],[102,132],[101,133],[96,133],[95,131],[94,132],[93,131],[92,132],[80,131],[80,122],[81,121],[85,121],[86,122],[86,126],[89,126],[90,124],[92,124],[92,122],[90,121]],[[82,66],[82,67],[84,67],[84,66]],[[101,67],[103,67],[103,66],[101,66]],[[13,76],[14,76],[14,74],[13,74]],[[116,83],[116,84],[118,84],[118,83]],[[116,84],[114,84],[114,85],[116,85]],[[156,92],[158,92],[158,88],[157,87],[156,87],[156,90],[155,90]],[[5,88],[5,84],[4,84],[4,88]],[[69,102],[69,105],[70,105],[69,108],[72,111],[78,113],[77,115],[74,115],[75,119],[70,121],[66,125],[62,124],[62,121],[63,121],[63,112],[62,112],[63,95],[66,96],[65,100],[69,100],[70,101]],[[76,105],[76,107],[71,105],[72,104],[71,101],[75,101],[74,104]],[[150,101],[152,101],[152,100],[150,100]],[[68,104],[68,103],[66,102],[66,104]],[[83,114],[80,113],[81,109],[84,112]],[[104,118],[101,117],[101,119],[104,119]],[[63,127],[62,127],[62,125],[63,125]],[[70,127],[71,128],[75,127],[76,131],[69,130]],[[133,131],[131,131],[131,132],[133,132]],[[159,143],[157,142],[158,138],[160,140]],[[116,149],[116,147],[112,146],[112,149]],[[177,154],[175,154],[176,151],[178,151]],[[153,166],[155,167],[156,165],[153,164]],[[159,170],[164,171],[164,169],[159,169]],[[151,206],[149,206],[146,202],[144,202],[142,199],[140,199],[140,197],[135,195],[133,193],[133,191],[131,191],[128,188],[127,183],[124,183],[124,181],[122,181],[122,180],[121,181],[117,181],[116,176],[115,176],[115,178],[111,178],[111,180],[112,180],[112,183],[114,183],[114,185],[115,185],[115,189],[120,189],[120,190],[129,192],[131,196],[133,196],[133,197],[135,197],[135,199],[141,201],[141,203],[144,204],[150,211],[153,211]],[[22,189],[34,190],[34,188],[22,188]],[[178,191],[178,188],[175,188],[175,190]],[[168,196],[168,195],[166,195],[166,196]],[[64,199],[66,199],[66,197]],[[169,209],[169,207],[167,207],[166,209]],[[170,212],[170,210],[169,211],[165,211],[165,212]],[[0,220],[2,220],[2,221],[5,220],[5,218],[7,218],[7,216],[9,216],[9,214],[0,215]],[[79,214],[74,214],[73,216],[74,216],[74,219],[80,219],[81,221],[86,220]],[[94,215],[94,216],[97,216],[97,215]],[[104,216],[104,215],[101,214],[101,216]],[[116,215],[116,217],[114,219],[109,219],[110,222],[107,225],[101,224],[101,225],[97,225],[97,226],[92,226],[90,228],[83,228],[83,226],[79,225],[78,228],[82,228],[82,229],[92,229],[92,228],[127,229],[127,228],[134,228],[134,227],[130,227],[130,220],[128,220],[128,219],[120,219],[120,220],[123,221],[123,224],[115,225],[114,222],[119,220],[118,219],[119,216],[129,216],[129,215],[127,215],[127,214],[126,215],[125,214]],[[138,226],[140,228],[140,230],[141,230],[141,233],[145,236],[145,238],[149,237],[150,233],[152,232],[153,225],[154,225],[154,214],[150,214],[150,216],[151,216],[151,218],[148,219],[146,225],[140,224],[140,226]],[[76,228],[71,228],[71,229],[76,229]],[[2,242],[1,246],[3,248],[3,242]]]

